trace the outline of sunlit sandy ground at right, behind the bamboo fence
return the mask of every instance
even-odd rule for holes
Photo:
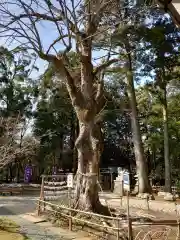
[[[115,208],[120,214],[127,214],[127,197],[123,197],[121,200],[115,194],[106,193],[103,194],[103,197],[101,195],[101,199],[109,208]],[[177,239],[177,221],[180,219],[179,208],[180,200],[167,202],[162,197],[156,196],[155,200],[147,203],[146,200],[130,197],[129,213],[132,219],[134,239]],[[127,223],[122,223],[121,227],[128,229]]]

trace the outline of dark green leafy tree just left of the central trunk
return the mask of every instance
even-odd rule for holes
[[[72,152],[75,143],[75,139],[72,139],[75,132],[73,128],[75,118],[70,98],[65,86],[54,81],[52,73],[52,68],[48,68],[42,76],[34,115],[34,134],[41,143],[39,153],[41,173],[48,164],[51,167],[52,165],[62,167],[67,138],[71,140]],[[51,162],[46,162],[48,156]]]

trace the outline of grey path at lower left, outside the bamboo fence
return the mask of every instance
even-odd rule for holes
[[[75,237],[72,236],[73,233],[68,233],[68,236],[64,237],[64,230],[62,230],[61,234],[61,229],[55,232],[51,230],[53,228],[50,225],[48,227],[40,226],[25,219],[23,216],[27,215],[27,213],[34,212],[36,200],[37,198],[35,197],[0,197],[0,217],[7,217],[15,221],[21,227],[20,232],[31,240],[75,239]]]

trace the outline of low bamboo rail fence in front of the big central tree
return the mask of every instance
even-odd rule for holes
[[[109,232],[113,235],[116,236],[116,239],[128,239],[128,240],[153,240],[153,239],[162,239],[162,240],[167,240],[168,235],[169,235],[169,231],[170,228],[166,228],[164,229],[164,227],[167,226],[171,226],[171,227],[176,227],[177,232],[176,232],[176,236],[173,238],[174,240],[179,240],[180,239],[180,222],[179,220],[177,220],[176,222],[172,222],[172,221],[166,221],[166,223],[161,223],[161,222],[147,222],[147,223],[133,223],[130,215],[129,215],[129,207],[127,207],[127,219],[123,220],[122,218],[118,217],[118,216],[105,216],[105,215],[101,215],[101,214],[96,214],[93,212],[86,212],[86,211],[82,211],[82,210],[78,210],[78,209],[73,209],[64,205],[57,205],[57,204],[53,204],[50,202],[46,202],[43,200],[39,200],[40,204],[46,205],[46,206],[50,206],[51,208],[47,208],[48,211],[54,212],[54,213],[59,213],[62,217],[68,219],[69,222],[69,230],[72,231],[72,225],[73,225],[73,220],[81,222],[83,224],[86,224],[88,226],[94,226],[94,227],[98,227],[100,230],[103,229],[106,232]],[[39,205],[38,203],[38,205]],[[43,211],[46,210],[46,207],[43,209]],[[106,222],[106,220],[110,220],[114,223],[113,226],[109,226],[108,224],[99,224],[96,223],[94,221],[90,221],[89,219],[83,219],[82,217],[79,218],[77,217],[77,215],[84,214],[86,216],[94,216],[94,217],[99,217],[101,219],[101,222]],[[39,213],[40,214],[40,213]],[[104,221],[103,221],[104,219]],[[127,229],[127,234],[125,234],[125,227],[122,227],[122,224],[126,225],[126,229]],[[121,226],[121,227],[120,227]],[[163,230],[149,230],[149,231],[144,231],[143,229],[140,229],[140,231],[138,231],[138,233],[136,233],[135,236],[133,236],[133,229],[134,228],[139,228],[139,227],[153,227],[153,226],[158,226],[158,227],[163,227]],[[124,233],[123,233],[124,231]],[[137,232],[137,231],[136,231]],[[143,236],[143,237],[142,237]],[[159,236],[159,237],[157,237]],[[123,238],[124,237],[124,238]],[[172,239],[172,238],[170,238]]]

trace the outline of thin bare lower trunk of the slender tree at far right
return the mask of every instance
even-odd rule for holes
[[[169,134],[166,88],[164,89],[163,123],[164,123],[164,163],[165,163],[165,192],[171,193],[171,166],[169,158]]]

